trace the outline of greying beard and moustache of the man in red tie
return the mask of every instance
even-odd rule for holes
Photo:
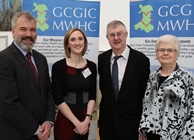
[[[25,40],[29,40],[31,41],[32,43],[26,43]],[[26,52],[29,52],[32,50],[34,44],[35,44],[35,41],[36,41],[36,38],[33,38],[33,37],[29,37],[29,36],[26,36],[26,37],[18,37],[16,36],[15,37],[15,42],[16,44],[24,51]]]

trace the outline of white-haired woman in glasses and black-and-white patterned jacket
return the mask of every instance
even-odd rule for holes
[[[180,42],[172,35],[161,36],[155,51],[161,67],[147,83],[140,140],[193,140],[194,78],[176,63]]]

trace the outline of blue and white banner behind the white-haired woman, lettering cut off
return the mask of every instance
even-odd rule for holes
[[[181,42],[177,63],[194,73],[194,1],[145,0],[130,3],[130,45],[150,58],[151,71],[160,66],[155,56],[159,36],[172,34]]]

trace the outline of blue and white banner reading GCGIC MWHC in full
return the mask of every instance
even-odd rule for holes
[[[97,63],[99,46],[100,2],[79,0],[23,0],[23,11],[37,20],[37,42],[34,49],[44,54],[49,69],[65,57],[63,38],[66,32],[80,28],[88,39],[85,58]]]

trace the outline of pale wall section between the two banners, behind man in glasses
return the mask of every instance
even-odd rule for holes
[[[106,39],[106,25],[121,20],[129,31],[129,0],[101,0],[99,51],[110,49]]]

